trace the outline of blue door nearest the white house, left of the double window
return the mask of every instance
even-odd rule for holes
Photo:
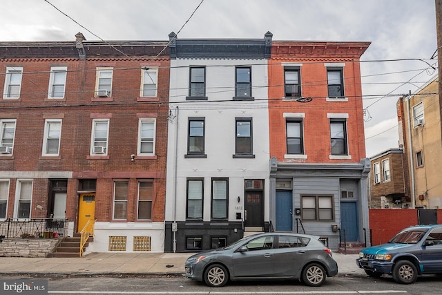
[[[291,231],[292,204],[291,191],[276,191],[276,231]]]

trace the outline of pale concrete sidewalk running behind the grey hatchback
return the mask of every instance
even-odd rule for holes
[[[37,274],[112,275],[184,274],[189,253],[91,253],[78,258],[0,257],[0,276]],[[356,265],[357,254],[334,253],[339,274],[365,275]]]

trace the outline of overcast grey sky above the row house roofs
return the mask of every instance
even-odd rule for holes
[[[436,59],[430,59],[437,48],[434,0],[200,3],[1,0],[0,41],[68,41],[75,40],[77,32],[88,40],[166,41],[170,32],[178,32],[183,26],[178,38],[263,38],[270,31],[273,41],[371,41],[361,58],[367,157],[398,147],[398,97],[419,91],[437,75],[437,70],[428,66],[437,67]],[[385,61],[392,59],[407,60]]]

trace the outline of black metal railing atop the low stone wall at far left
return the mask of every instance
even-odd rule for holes
[[[67,230],[67,219],[7,218],[0,222],[0,236],[4,238],[52,238],[67,236]]]

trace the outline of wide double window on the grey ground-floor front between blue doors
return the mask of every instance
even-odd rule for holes
[[[302,220],[333,220],[331,196],[302,196]]]

